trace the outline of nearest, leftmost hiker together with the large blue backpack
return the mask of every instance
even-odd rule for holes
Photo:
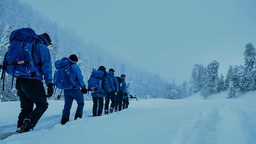
[[[31,28],[17,29],[10,35],[9,50],[4,56],[2,78],[4,79],[5,72],[17,78],[15,88],[21,107],[17,133],[33,130],[48,108],[46,97],[53,94],[51,55],[47,47],[50,44],[51,38],[48,34],[36,35]],[[43,79],[48,87],[47,94]]]

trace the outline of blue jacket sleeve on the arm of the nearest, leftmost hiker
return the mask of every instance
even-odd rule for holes
[[[44,75],[45,84],[52,83],[52,61],[48,47],[41,45],[40,47],[40,63],[41,70]]]

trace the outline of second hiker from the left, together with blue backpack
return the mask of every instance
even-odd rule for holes
[[[87,93],[86,86],[81,69],[77,65],[78,58],[75,54],[71,54],[69,58],[62,58],[55,61],[54,83],[56,86],[64,90],[65,105],[62,110],[61,124],[64,125],[69,122],[70,109],[75,99],[77,102],[77,109],[75,120],[82,118],[84,108],[83,94]],[[81,90],[80,88],[81,87]]]

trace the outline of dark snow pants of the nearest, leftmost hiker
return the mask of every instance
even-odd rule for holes
[[[17,127],[21,127],[25,118],[35,127],[41,116],[48,108],[43,82],[38,79],[17,78],[17,94],[20,98],[21,112],[18,117]],[[36,108],[34,108],[34,103]]]

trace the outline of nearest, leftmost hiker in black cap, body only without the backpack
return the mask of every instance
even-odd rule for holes
[[[21,112],[18,117],[17,133],[28,132],[36,126],[37,122],[48,108],[46,97],[53,94],[52,83],[52,63],[51,54],[48,45],[51,44],[51,38],[48,34],[37,35],[34,52],[39,51],[36,65],[36,73],[31,77],[20,76],[16,79],[15,88],[20,98]],[[44,83],[47,86],[47,94],[44,90]],[[36,108],[34,108],[34,104]]]

